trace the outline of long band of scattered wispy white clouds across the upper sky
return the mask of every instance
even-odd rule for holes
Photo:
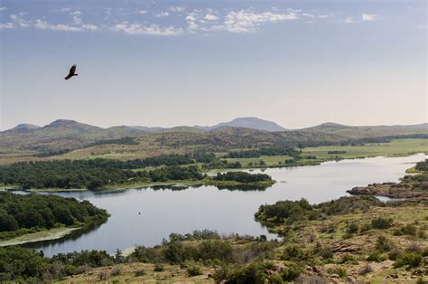
[[[145,8],[145,7],[144,7]],[[240,10],[216,10],[212,8],[193,9],[182,6],[167,6],[163,10],[144,10],[142,7],[125,10],[124,8],[106,8],[99,17],[93,17],[86,10],[61,7],[54,10],[61,13],[59,20],[46,15],[27,16],[11,14],[10,20],[2,23],[0,28],[36,28],[64,32],[114,31],[126,34],[180,35],[185,33],[255,33],[266,24],[302,20],[302,24],[318,23],[333,14],[308,13],[299,9],[276,8],[257,11],[255,8]],[[149,13],[150,12],[150,13]],[[126,14],[128,13],[128,14]],[[64,14],[69,16],[69,20]],[[136,14],[144,14],[139,17]],[[172,16],[173,15],[173,16]],[[91,24],[86,23],[92,17]],[[363,20],[377,18],[377,14],[363,14]],[[95,22],[94,22],[95,20]],[[340,23],[343,23],[343,19]],[[353,23],[351,17],[345,23]]]

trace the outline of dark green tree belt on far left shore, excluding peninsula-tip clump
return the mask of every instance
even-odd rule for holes
[[[119,166],[116,166],[116,163]],[[65,160],[19,163],[0,167],[0,184],[30,188],[87,188],[135,182],[201,180],[197,166],[165,166],[150,171],[122,169],[116,160]]]

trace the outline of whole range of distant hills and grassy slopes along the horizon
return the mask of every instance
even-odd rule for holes
[[[28,160],[29,157],[60,156],[71,151],[78,151],[73,153],[79,155],[67,157],[154,156],[175,153],[178,149],[203,148],[221,152],[236,147],[331,145],[349,139],[408,136],[428,137],[428,124],[350,127],[328,122],[291,130],[260,118],[236,118],[210,127],[98,128],[74,120],[58,119],[44,127],[20,124],[0,132],[0,160],[13,162]],[[124,145],[124,141],[134,142]],[[110,153],[116,154],[109,156]]]

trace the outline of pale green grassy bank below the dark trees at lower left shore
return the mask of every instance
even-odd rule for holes
[[[14,239],[0,241],[0,247],[18,245],[34,241],[57,240],[75,230],[79,230],[79,228],[60,227],[51,230],[43,230],[41,232],[27,233]]]

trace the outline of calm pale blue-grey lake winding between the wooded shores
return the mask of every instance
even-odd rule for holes
[[[185,190],[144,188],[102,194],[60,193],[61,196],[87,199],[107,209],[111,217],[98,228],[76,233],[69,240],[32,246],[47,255],[88,249],[114,252],[135,245],[159,244],[171,232],[202,229],[266,234],[274,238],[254,221],[254,213],[260,204],[301,198],[316,204],[347,195],[346,190],[354,186],[396,182],[405,175],[405,169],[425,157],[375,157],[328,162],[320,166],[267,169],[265,174],[271,175],[277,183],[258,191],[201,186]],[[257,172],[260,171],[254,171]]]

